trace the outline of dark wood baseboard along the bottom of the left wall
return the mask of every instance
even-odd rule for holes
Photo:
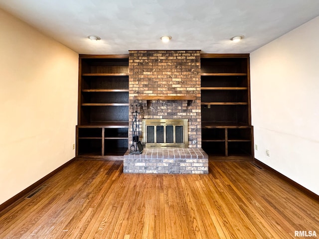
[[[0,212],[2,212],[2,210],[9,210],[11,207],[13,206],[13,204],[15,202],[17,202],[19,199],[21,199],[22,197],[24,197],[26,194],[30,193],[33,189],[35,189],[36,187],[38,187],[39,185],[41,185],[42,183],[44,183],[47,179],[49,179],[50,177],[52,177],[53,175],[57,174],[59,171],[61,171],[63,168],[65,168],[66,166],[68,166],[70,163],[72,163],[75,160],[75,157],[72,158],[71,160],[67,161],[66,163],[64,163],[63,165],[61,165],[60,167],[58,167],[57,169],[53,170],[51,173],[47,174],[46,176],[44,176],[43,178],[41,178],[40,180],[36,181],[35,183],[33,183],[32,185],[30,185],[29,187],[27,187],[26,189],[22,190],[21,192],[19,192],[18,194],[16,194],[15,196],[13,196],[12,198],[10,198],[9,200],[5,201],[4,203],[0,204]]]

